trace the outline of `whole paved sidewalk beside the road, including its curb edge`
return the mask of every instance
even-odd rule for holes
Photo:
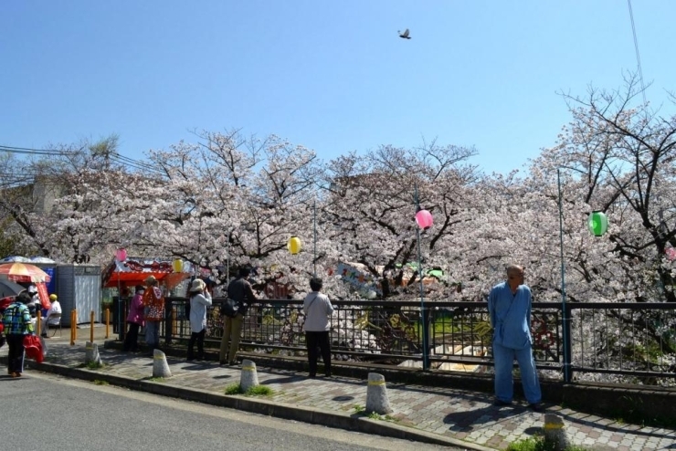
[[[342,376],[308,379],[307,374],[301,372],[259,367],[259,383],[269,386],[274,391],[272,396],[230,396],[225,395],[224,390],[227,385],[239,382],[240,367],[219,366],[216,362],[185,362],[167,356],[172,377],[153,381],[152,358],[104,349],[102,330],[96,329],[95,342],[104,368],[80,368],[85,358],[85,341],[90,340],[89,329],[79,330],[75,346],[69,345],[68,331],[64,330],[67,333],[62,339],[48,340],[49,356],[45,362],[28,363],[31,370],[26,376],[29,377],[33,369],[56,372],[259,414],[457,449],[504,449],[513,441],[540,432],[543,427],[544,414],[518,404],[494,407],[491,397],[485,393],[453,388],[387,383],[388,399],[395,411],[388,421],[369,419],[358,413],[355,406],[363,408],[366,404],[366,382]],[[0,355],[5,362],[6,346]],[[545,407],[546,412],[564,418],[566,435],[575,445],[604,451],[676,449],[676,433],[671,430],[616,423],[555,405],[545,404]]]

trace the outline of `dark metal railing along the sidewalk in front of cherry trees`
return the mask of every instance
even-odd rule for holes
[[[207,309],[206,343],[222,336],[219,304]],[[170,298],[161,333],[165,341],[186,340],[188,299]],[[427,353],[440,371],[487,372],[492,367],[491,325],[485,302],[429,302],[429,348],[423,349],[417,301],[333,301],[333,358],[421,367]],[[533,353],[539,370],[561,378],[566,363],[575,374],[622,382],[676,381],[676,305],[665,303],[568,303],[569,341],[563,341],[561,304],[533,303]],[[264,299],[248,309],[241,346],[293,355],[306,351],[304,315],[297,300]],[[118,330],[123,326],[118,326]],[[211,343],[210,343],[211,341]],[[566,354],[564,345],[569,346]],[[565,362],[565,355],[571,362]],[[593,376],[596,374],[596,376]],[[636,379],[639,378],[639,379]],[[671,382],[669,382],[671,381]]]

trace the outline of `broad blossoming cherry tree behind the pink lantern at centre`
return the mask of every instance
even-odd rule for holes
[[[396,287],[415,283],[420,277],[417,265],[407,264],[417,262],[417,190],[418,205],[436,221],[421,239],[423,268],[448,268],[452,236],[467,221],[464,191],[476,178],[475,168],[462,163],[474,152],[431,142],[418,149],[383,146],[364,156],[350,153],[329,163],[324,210],[331,224],[329,234],[340,243],[334,256],[364,265],[380,280],[385,296]]]

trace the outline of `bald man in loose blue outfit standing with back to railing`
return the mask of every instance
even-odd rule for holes
[[[531,337],[531,288],[523,285],[523,267],[507,267],[507,281],[491,289],[488,311],[493,327],[495,405],[512,404],[512,368],[516,359],[526,400],[534,411],[540,411],[542,393]]]

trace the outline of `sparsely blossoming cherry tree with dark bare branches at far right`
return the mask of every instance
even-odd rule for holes
[[[584,201],[613,221],[613,251],[630,266],[622,278],[637,280],[626,299],[676,302],[674,267],[665,257],[676,247],[676,115],[632,106],[638,82],[629,76],[624,89],[567,96],[574,119],[553,152],[586,184]]]

